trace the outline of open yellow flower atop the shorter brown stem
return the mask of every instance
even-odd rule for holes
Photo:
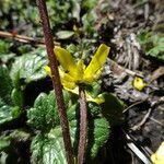
[[[107,59],[109,49],[108,46],[102,44],[86,67],[82,59],[75,62],[69,51],[61,47],[56,47],[54,51],[60,62],[59,74],[63,87],[73,93],[75,91],[77,93],[79,84],[91,84],[94,82],[101,74],[102,67]],[[46,66],[44,69],[51,77],[50,68]],[[86,94],[86,96],[91,102],[102,102],[102,99],[94,101],[89,94]]]

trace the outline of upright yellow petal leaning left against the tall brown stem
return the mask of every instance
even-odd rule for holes
[[[71,54],[61,47],[56,47],[54,51],[63,70],[72,77],[77,77],[79,70]]]

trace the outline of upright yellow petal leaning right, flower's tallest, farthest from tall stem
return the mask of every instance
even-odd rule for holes
[[[93,56],[90,65],[84,71],[84,80],[92,81],[93,75],[102,68],[102,66],[105,63],[109,47],[105,44],[102,44],[98,49],[96,50],[95,55]]]

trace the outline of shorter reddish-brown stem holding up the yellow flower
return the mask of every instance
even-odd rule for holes
[[[80,139],[78,150],[78,164],[84,164],[85,162],[85,147],[87,140],[87,112],[86,112],[86,98],[83,86],[79,87],[80,95]]]

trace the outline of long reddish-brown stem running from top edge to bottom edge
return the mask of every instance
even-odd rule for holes
[[[67,118],[67,110],[66,110],[65,102],[63,102],[62,86],[61,86],[60,77],[58,72],[57,59],[54,54],[52,34],[50,31],[46,2],[45,0],[36,0],[36,2],[37,2],[39,14],[40,14],[40,20],[42,20],[42,25],[43,25],[44,36],[45,36],[45,44],[46,44],[47,54],[48,54],[48,58],[50,62],[52,84],[54,84],[54,89],[55,89],[55,93],[57,97],[60,125],[62,128],[66,157],[67,157],[68,164],[73,164],[73,153],[72,153],[72,147],[71,147],[71,139],[70,139],[69,121]]]

